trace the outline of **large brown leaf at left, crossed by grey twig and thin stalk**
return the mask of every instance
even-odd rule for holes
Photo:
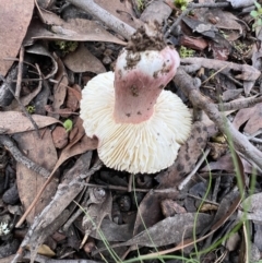
[[[39,139],[34,131],[15,134],[14,139],[17,142],[20,150],[26,153],[26,157],[51,171],[57,163],[57,151],[53,146],[50,131],[48,129],[41,130],[41,133],[44,133],[41,139]],[[21,163],[16,164],[16,176],[20,199],[26,210],[47,179],[35,171],[29,170]],[[48,184],[41,195],[41,200],[27,216],[26,219],[28,223],[32,224],[34,217],[50,202],[56,192],[57,184],[57,180],[52,180]]]

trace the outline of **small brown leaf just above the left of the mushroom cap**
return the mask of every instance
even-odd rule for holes
[[[106,68],[84,44],[80,44],[74,52],[68,53],[63,58],[64,64],[73,72],[93,72],[96,74],[106,72]]]

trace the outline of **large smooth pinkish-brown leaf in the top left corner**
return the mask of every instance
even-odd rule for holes
[[[0,1],[0,74],[5,75],[16,58],[34,9],[34,0]]]

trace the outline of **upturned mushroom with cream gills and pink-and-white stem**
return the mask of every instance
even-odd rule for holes
[[[143,39],[152,40],[146,28],[142,31]],[[172,165],[191,129],[187,106],[163,91],[179,67],[178,52],[155,45],[156,39],[152,43],[151,50],[138,45],[123,49],[115,73],[93,77],[80,104],[87,136],[98,139],[102,162],[132,174],[153,174]]]

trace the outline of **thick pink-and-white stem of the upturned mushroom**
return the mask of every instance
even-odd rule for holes
[[[170,47],[162,51],[124,50],[115,70],[115,110],[117,123],[148,120],[163,88],[174,77],[180,59]]]

